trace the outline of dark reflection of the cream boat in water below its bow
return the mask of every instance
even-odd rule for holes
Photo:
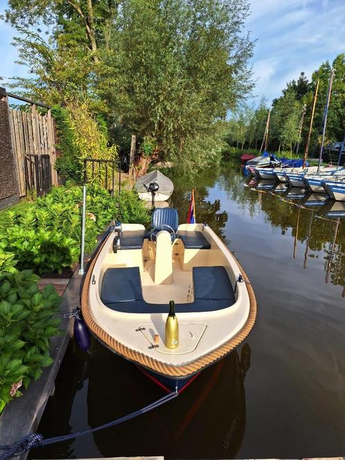
[[[35,450],[30,458],[136,457],[162,452],[166,459],[207,459],[215,452],[217,458],[235,457],[245,433],[244,379],[250,353],[248,344],[240,357],[234,351],[203,371],[167,405],[94,435]],[[163,396],[134,364],[96,341],[89,355],[76,351],[71,343],[67,356],[72,362],[64,360],[55,395],[39,427],[45,436],[102,425]],[[222,395],[222,402],[215,405],[217,395]],[[212,430],[213,426],[218,429]]]

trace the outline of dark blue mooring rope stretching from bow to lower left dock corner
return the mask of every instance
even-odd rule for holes
[[[98,432],[100,430],[105,430],[105,428],[113,427],[114,425],[119,425],[120,423],[131,420],[131,418],[135,418],[141,414],[145,414],[145,412],[149,412],[150,410],[155,409],[156,407],[159,407],[165,403],[168,403],[168,401],[176,398],[178,395],[179,393],[176,389],[172,393],[169,393],[166,396],[163,396],[163,398],[160,398],[159,400],[154,401],[154,403],[151,403],[148,406],[145,406],[142,409],[137,410],[136,412],[132,412],[131,414],[127,414],[121,418],[116,418],[116,420],[112,422],[105,423],[104,425],[100,425],[99,427],[96,427],[96,428],[90,428],[89,430],[86,430],[84,432],[70,433],[70,434],[65,434],[64,436],[55,436],[53,438],[48,438],[48,439],[44,439],[42,434],[37,434],[37,433],[27,434],[26,436],[19,439],[13,444],[8,444],[8,445],[0,444],[0,450],[6,451],[0,455],[0,460],[7,460],[7,459],[10,459],[11,457],[16,457],[17,455],[23,454],[27,450],[30,450],[33,448],[44,448],[46,445],[49,445],[49,444],[61,443],[62,441],[69,441],[71,439],[80,438],[80,436],[87,436],[87,434]]]

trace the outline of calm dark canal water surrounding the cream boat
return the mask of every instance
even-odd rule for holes
[[[177,399],[30,458],[343,455],[345,219],[331,204],[315,206],[323,197],[269,190],[267,182],[248,186],[239,163],[206,170],[193,184],[172,179],[180,221],[194,185],[197,222],[209,222],[247,272],[258,301],[254,330]],[[85,354],[71,342],[37,432],[83,431],[163,394],[100,344]]]

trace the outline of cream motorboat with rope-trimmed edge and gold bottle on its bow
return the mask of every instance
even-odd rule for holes
[[[175,301],[179,346],[164,330]],[[178,224],[155,209],[152,230],[122,224],[103,242],[85,277],[82,315],[115,353],[180,389],[249,334],[253,289],[236,258],[206,224]]]

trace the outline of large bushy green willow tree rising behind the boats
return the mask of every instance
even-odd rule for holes
[[[150,159],[203,165],[220,147],[219,121],[251,89],[253,44],[243,34],[242,0],[124,1],[109,67],[118,76],[107,99]]]

